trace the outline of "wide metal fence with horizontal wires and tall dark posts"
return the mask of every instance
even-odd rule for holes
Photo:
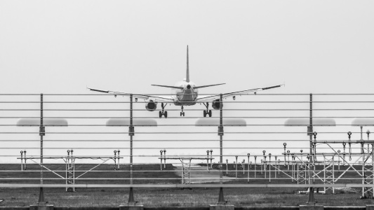
[[[39,202],[44,188],[130,188],[129,203],[133,188],[220,188],[218,202],[224,188],[373,197],[374,94],[221,95],[210,118],[199,104],[160,118],[132,94],[0,97],[0,162],[14,165],[0,188],[39,188]]]

